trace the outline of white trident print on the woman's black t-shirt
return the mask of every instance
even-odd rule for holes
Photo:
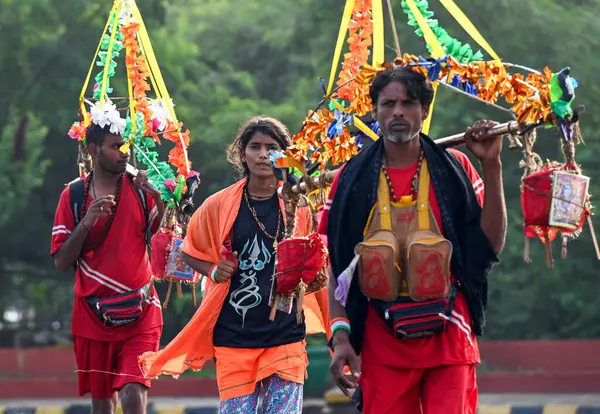
[[[241,286],[231,292],[229,304],[242,317],[242,327],[246,319],[246,313],[260,305],[262,296],[259,293],[257,274],[271,262],[273,255],[265,247],[263,240],[258,242],[258,236],[254,235],[254,240],[244,244],[242,254],[240,255],[240,274]]]

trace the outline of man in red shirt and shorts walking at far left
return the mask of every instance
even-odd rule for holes
[[[150,381],[137,358],[158,350],[163,325],[150,284],[146,231],[158,229],[164,206],[144,172],[136,178],[125,173],[129,152],[120,151],[123,144],[110,125],[89,126],[93,172],[62,192],[52,228],[56,267],[76,267],[72,333],[79,394],[91,393],[92,412],[102,414],[115,412],[119,391],[124,413],[146,412]]]

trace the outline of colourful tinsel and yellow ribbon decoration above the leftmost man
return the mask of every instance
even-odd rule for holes
[[[110,99],[113,92],[110,80],[115,75],[116,59],[123,49],[126,50],[129,90],[128,115],[125,119],[119,113],[122,108],[117,109]],[[174,105],[166,92],[160,69],[156,63],[153,65],[149,61],[155,59],[151,50],[135,0],[116,0],[97,53],[96,66],[102,70],[94,78],[92,99],[96,102],[84,98],[86,81],[81,95],[82,120],[73,124],[68,135],[85,142],[87,127],[92,122],[101,126],[111,125],[111,130],[113,125],[118,126],[115,131],[126,141],[121,150],[127,151],[133,147],[136,160],[147,167],[148,178],[159,189],[163,200],[179,202],[181,200],[165,183],[181,181],[179,178],[185,181],[198,173],[192,171],[187,155],[190,131],[183,131],[183,124],[175,116]],[[149,91],[153,91],[156,98],[148,97]],[[84,102],[88,103],[90,112],[86,111]],[[160,161],[156,152],[156,146],[161,144],[160,135],[174,144],[168,162]]]

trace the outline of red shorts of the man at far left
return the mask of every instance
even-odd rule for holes
[[[135,382],[150,388],[138,365],[138,356],[158,351],[161,327],[124,341],[94,341],[73,335],[79,395],[112,398],[125,384]]]

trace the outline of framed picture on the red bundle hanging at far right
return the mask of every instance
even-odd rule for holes
[[[585,210],[590,178],[567,171],[555,171],[550,204],[550,226],[577,229]]]

